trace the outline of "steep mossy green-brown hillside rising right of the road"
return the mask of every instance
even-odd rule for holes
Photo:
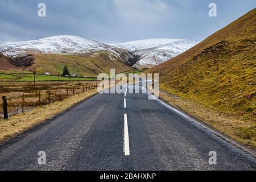
[[[255,122],[255,67],[256,9],[146,72],[168,93]]]

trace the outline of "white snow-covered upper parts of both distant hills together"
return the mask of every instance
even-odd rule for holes
[[[36,52],[55,55],[81,55],[106,51],[109,53],[110,59],[118,58],[135,68],[150,68],[170,60],[197,43],[183,39],[146,39],[104,44],[77,36],[62,35],[23,42],[0,42],[0,52],[6,56],[16,56]]]

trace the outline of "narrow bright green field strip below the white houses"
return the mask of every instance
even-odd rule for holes
[[[35,75],[36,81],[86,81],[86,80],[97,80],[97,78],[91,77],[58,77],[53,75]],[[2,74],[0,73],[0,81],[34,81],[33,74]]]

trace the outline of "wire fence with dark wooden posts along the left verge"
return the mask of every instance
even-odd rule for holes
[[[0,105],[0,119],[7,119],[12,115],[24,113],[39,106],[49,105],[57,101],[63,101],[66,98],[89,92],[96,89],[101,82],[86,82],[85,84],[76,84],[68,86],[56,86],[49,89],[35,88],[31,92],[13,92],[13,94],[2,94],[2,104]],[[18,90],[18,89],[17,89]]]

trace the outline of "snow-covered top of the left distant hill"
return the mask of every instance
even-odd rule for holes
[[[6,56],[15,56],[28,52],[56,55],[80,55],[97,51],[108,51],[111,56],[118,57],[121,60],[128,59],[131,56],[129,55],[130,52],[125,49],[71,35],[52,36],[23,42],[0,42],[0,52]],[[127,54],[127,56],[124,56],[125,54]]]

